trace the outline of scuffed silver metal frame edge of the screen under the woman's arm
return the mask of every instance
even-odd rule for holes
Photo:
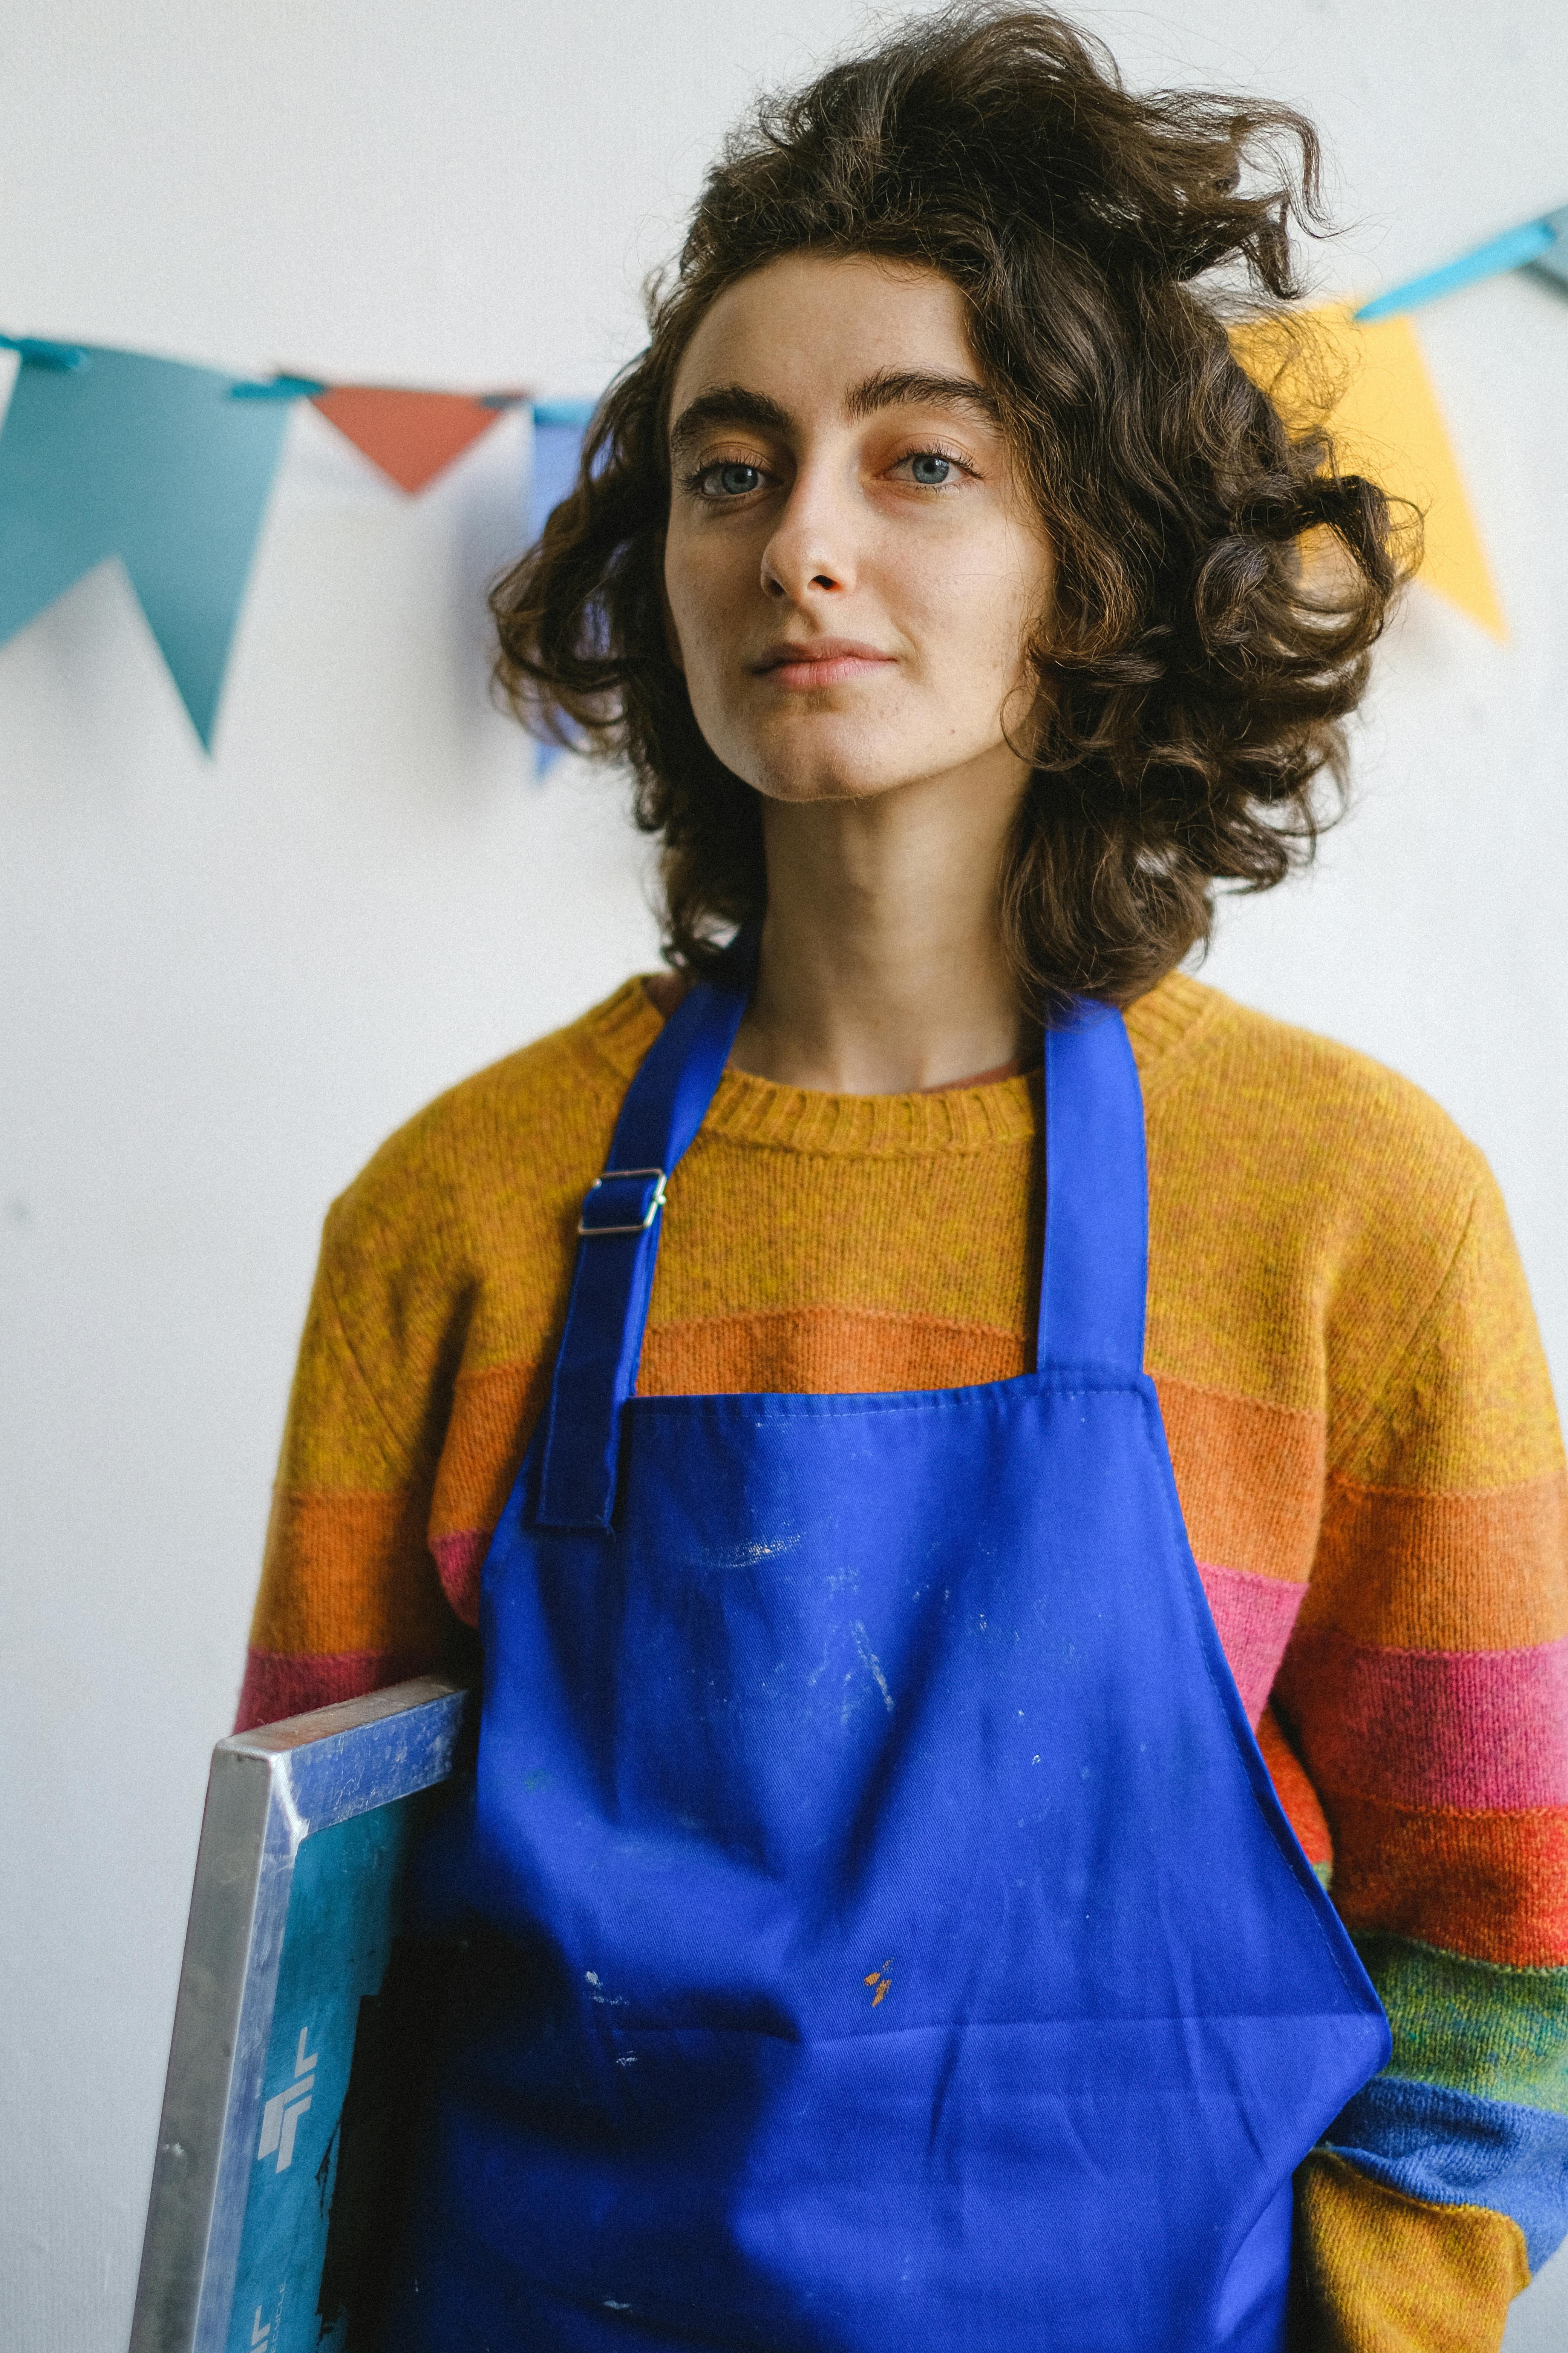
[[[212,1753],[129,2353],[223,2353],[294,1859],[447,1781],[475,1694],[418,1675]]]

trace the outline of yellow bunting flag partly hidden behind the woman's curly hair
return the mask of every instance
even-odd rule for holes
[[[1410,320],[1380,318],[1356,327],[1345,304],[1331,304],[1298,313],[1293,325],[1305,334],[1300,344],[1284,346],[1267,322],[1237,329],[1237,358],[1260,384],[1272,384],[1286,416],[1293,409],[1321,414],[1324,386],[1338,386],[1328,426],[1340,471],[1366,473],[1389,496],[1420,506],[1427,544],[1418,576],[1488,635],[1507,638],[1460,461]]]

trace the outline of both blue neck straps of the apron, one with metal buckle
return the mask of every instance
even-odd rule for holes
[[[609,1165],[588,1191],[545,1407],[541,1527],[609,1527],[621,1407],[637,1388],[665,1184],[703,1125],[752,993],[755,941],[682,998],[628,1087]],[[1143,1372],[1147,1287],[1143,1089],[1121,1014],[1046,1033],[1041,1372]]]

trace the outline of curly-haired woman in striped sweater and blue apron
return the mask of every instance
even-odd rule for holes
[[[1211,292],[1312,172],[914,26],[731,144],[496,593],[672,972],[327,1226],[242,1720],[484,1652],[393,2344],[1479,2348],[1561,2235],[1507,1221],[1175,969],[1401,569]]]

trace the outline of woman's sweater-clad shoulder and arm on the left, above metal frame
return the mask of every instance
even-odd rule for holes
[[[543,1400],[578,1202],[654,1035],[632,981],[437,1096],[334,1202],[240,1729],[475,1671],[480,1565]]]

